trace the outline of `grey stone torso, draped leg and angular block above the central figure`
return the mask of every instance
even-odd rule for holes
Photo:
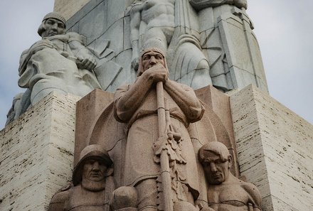
[[[267,91],[246,0],[137,0],[129,6],[132,68],[144,48],[166,54],[171,80],[223,92],[253,84]]]

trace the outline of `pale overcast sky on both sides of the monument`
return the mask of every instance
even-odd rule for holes
[[[295,4],[297,2],[297,4]],[[0,1],[0,129],[17,85],[21,52],[40,37],[53,0]],[[313,124],[313,1],[248,0],[270,95]]]

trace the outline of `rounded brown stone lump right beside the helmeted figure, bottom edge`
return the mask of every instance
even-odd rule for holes
[[[138,194],[134,187],[122,186],[114,190],[110,201],[111,210],[136,211]]]

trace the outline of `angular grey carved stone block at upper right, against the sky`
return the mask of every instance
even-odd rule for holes
[[[224,92],[253,84],[267,91],[260,48],[246,0],[191,0],[198,11],[201,48],[215,87]]]

